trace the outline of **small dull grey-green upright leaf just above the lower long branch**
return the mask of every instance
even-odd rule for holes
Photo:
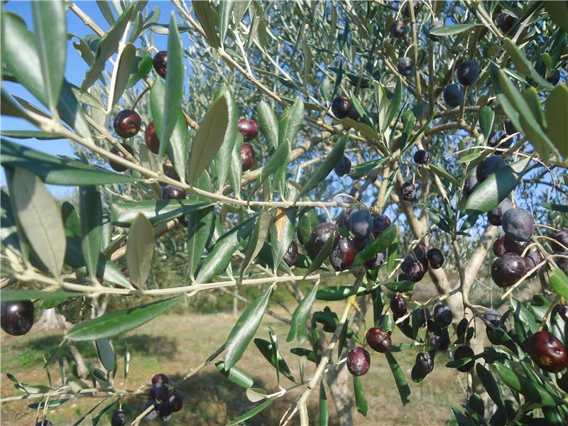
[[[143,288],[152,266],[154,254],[154,229],[142,213],[138,213],[129,230],[126,246],[126,266],[130,279],[138,288]]]

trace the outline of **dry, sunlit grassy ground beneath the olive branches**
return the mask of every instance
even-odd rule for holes
[[[323,305],[319,308],[322,308]],[[333,308],[333,306],[332,306]],[[339,305],[337,305],[339,308]],[[137,388],[148,383],[154,373],[163,372],[170,378],[180,377],[190,368],[200,364],[208,354],[219,347],[234,323],[231,315],[164,315],[158,317],[121,339],[116,339],[114,345],[119,352],[119,369],[115,385],[124,386],[123,359],[124,342],[128,342],[132,352],[129,376],[129,388]],[[285,342],[287,326],[272,317],[266,316],[258,330],[258,336],[268,339],[268,326],[273,327],[279,336],[280,351],[288,361],[295,376],[299,376],[297,356],[290,354],[293,344]],[[394,342],[406,341],[402,334],[395,332]],[[1,355],[1,395],[18,395],[13,384],[6,378],[6,373],[12,373],[20,381],[34,384],[45,384],[45,373],[38,369],[42,352],[47,352],[60,341],[60,334],[34,333],[25,337],[14,338],[2,334]],[[94,349],[89,344],[80,346],[87,355],[87,360],[97,366],[98,361]],[[395,354],[410,381],[410,368],[413,364],[415,351],[405,351]],[[437,359],[438,368],[420,384],[410,382],[412,391],[410,404],[403,407],[391,375],[390,368],[381,354],[373,354],[371,371],[362,378],[366,398],[370,405],[368,417],[355,414],[356,425],[443,425],[452,416],[449,408],[461,403],[464,394],[457,382],[454,370],[444,368],[445,356]],[[54,383],[59,381],[60,373],[56,365],[50,368]],[[277,391],[275,386],[275,370],[258,353],[251,344],[239,361],[239,366],[248,371],[255,380],[255,386],[265,388],[268,392]],[[313,364],[309,366],[311,374]],[[461,380],[465,375],[461,375]],[[289,386],[290,381],[283,378],[283,386]],[[255,404],[249,403],[242,388],[227,381],[217,369],[210,365],[197,376],[185,383],[180,389],[184,395],[183,410],[173,417],[170,425],[224,425],[229,420],[251,409]],[[346,390],[352,392],[351,388]],[[249,420],[247,425],[275,425],[290,403],[297,398],[298,393],[291,393],[280,398],[268,410]],[[310,418],[317,419],[317,391],[312,394]],[[329,391],[328,391],[329,398]],[[98,400],[97,400],[98,402]],[[124,410],[133,419],[143,408],[145,398],[129,398],[123,405]],[[94,400],[84,399],[65,403],[53,409],[48,418],[54,425],[71,425],[81,415],[94,405]],[[107,403],[103,403],[104,407]],[[330,424],[334,421],[335,413],[330,401]],[[111,413],[112,410],[109,410]],[[95,411],[94,413],[97,413]],[[90,423],[90,416],[84,423]],[[23,402],[1,405],[1,422],[6,425],[33,425],[35,411],[27,408]],[[109,424],[109,417],[103,417],[101,425]],[[293,424],[297,424],[297,418]]]

